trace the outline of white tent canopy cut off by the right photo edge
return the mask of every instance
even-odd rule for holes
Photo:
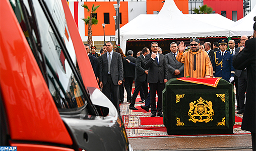
[[[247,35],[250,36],[253,34],[253,17],[256,16],[256,7],[252,9],[252,11],[246,15],[245,17],[241,18],[240,20],[236,21],[234,24],[231,25],[230,28],[230,37],[232,36],[242,36]]]

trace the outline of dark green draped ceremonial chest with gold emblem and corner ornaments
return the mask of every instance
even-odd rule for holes
[[[232,84],[221,79],[214,88],[169,80],[163,91],[163,121],[168,135],[232,134]]]

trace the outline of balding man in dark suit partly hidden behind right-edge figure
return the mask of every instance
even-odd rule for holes
[[[238,47],[235,49],[235,54],[237,54],[240,49],[242,50],[244,47],[245,47],[245,41],[248,40],[248,37],[243,35],[241,38],[240,38],[240,43],[242,44],[241,47]],[[238,82],[238,97],[239,97],[239,108],[240,108],[240,111],[237,112],[237,114],[242,114],[243,111],[244,111],[244,100],[245,100],[245,97],[244,97],[244,94],[246,92],[246,89],[247,89],[247,73],[246,73],[246,68],[244,68],[243,70],[238,70],[236,69],[235,70],[235,75],[237,77],[237,82]],[[236,94],[237,94],[236,93]],[[237,102],[238,104],[238,102]],[[237,105],[238,107],[238,105]]]

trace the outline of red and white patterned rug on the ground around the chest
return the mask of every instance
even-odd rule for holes
[[[139,110],[129,109],[130,103],[126,102],[126,97],[124,98],[125,102],[123,102],[123,104],[120,104],[120,114],[122,116],[122,120],[128,137],[133,138],[170,136],[167,134],[166,127],[163,124],[163,117],[150,117],[150,110],[149,112],[146,112],[145,110],[141,109],[140,106],[144,106],[145,103],[141,103],[139,102],[139,100],[141,100],[140,95],[138,95],[135,104],[135,107]],[[233,126],[233,134],[250,134],[250,132],[248,131],[241,130],[243,114],[236,114],[236,112],[235,124]]]

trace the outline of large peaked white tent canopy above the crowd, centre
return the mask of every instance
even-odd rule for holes
[[[173,0],[166,0],[158,15],[139,15],[120,28],[122,50],[129,39],[216,36],[229,37],[229,30],[182,14]]]

